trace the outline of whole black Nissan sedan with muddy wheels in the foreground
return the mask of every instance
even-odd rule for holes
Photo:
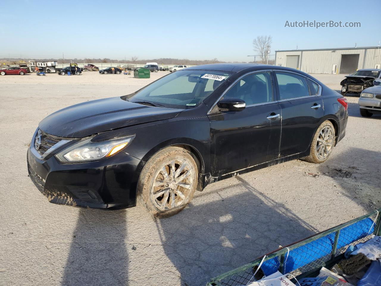
[[[295,69],[210,64],[130,95],[54,112],[35,131],[30,178],[50,202],[176,214],[195,190],[297,158],[322,163],[345,136],[347,102]]]

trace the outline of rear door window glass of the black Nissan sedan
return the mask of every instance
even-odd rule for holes
[[[309,96],[308,85],[304,77],[286,72],[275,72],[280,100]]]

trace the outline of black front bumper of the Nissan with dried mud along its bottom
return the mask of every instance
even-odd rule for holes
[[[30,148],[29,177],[50,202],[95,208],[136,205],[141,160],[122,151],[101,161],[62,164],[55,156],[43,161]]]

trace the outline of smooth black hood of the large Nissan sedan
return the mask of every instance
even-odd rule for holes
[[[38,126],[53,136],[83,138],[112,129],[171,119],[181,111],[183,109],[146,106],[112,97],[61,109],[45,117]]]

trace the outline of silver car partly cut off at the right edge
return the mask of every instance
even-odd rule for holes
[[[381,114],[381,85],[365,88],[360,94],[359,105],[363,117]]]

